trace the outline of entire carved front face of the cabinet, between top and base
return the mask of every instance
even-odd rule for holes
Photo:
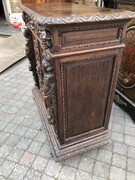
[[[32,37],[29,29],[26,29],[24,36],[26,38],[26,55],[30,62],[30,70],[33,72],[33,77],[36,86],[40,89],[44,97],[44,102],[48,115],[46,119],[49,124],[54,125],[56,131],[56,80],[53,68],[53,62],[46,54],[46,50],[52,48],[52,33],[46,26],[33,24],[33,21],[28,15],[23,13],[23,19],[30,29],[36,32],[36,37]],[[40,41],[41,40],[41,41]],[[39,50],[42,42],[42,51]],[[41,51],[41,52],[40,52]]]

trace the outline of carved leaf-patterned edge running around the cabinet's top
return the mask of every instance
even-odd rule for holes
[[[30,18],[39,23],[40,25],[46,24],[68,24],[68,23],[82,23],[82,22],[98,22],[98,21],[109,21],[109,20],[121,20],[121,19],[129,19],[135,17],[135,12],[121,12],[121,13],[113,13],[113,14],[97,14],[97,15],[88,15],[88,16],[66,16],[66,17],[44,17],[41,15],[37,15],[31,9],[27,8],[24,5],[19,5],[24,12],[30,16]]]

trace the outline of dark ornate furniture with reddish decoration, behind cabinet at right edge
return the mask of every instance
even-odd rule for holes
[[[135,1],[116,0],[116,8],[135,11]],[[128,23],[126,47],[123,50],[115,102],[124,108],[135,122],[135,19]]]

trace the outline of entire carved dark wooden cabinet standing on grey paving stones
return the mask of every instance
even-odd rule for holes
[[[135,13],[71,3],[20,7],[34,99],[55,160],[108,143],[124,26]]]

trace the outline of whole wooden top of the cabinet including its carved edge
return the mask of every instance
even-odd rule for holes
[[[20,5],[40,24],[69,24],[135,18],[135,12],[73,3],[29,3]]]

